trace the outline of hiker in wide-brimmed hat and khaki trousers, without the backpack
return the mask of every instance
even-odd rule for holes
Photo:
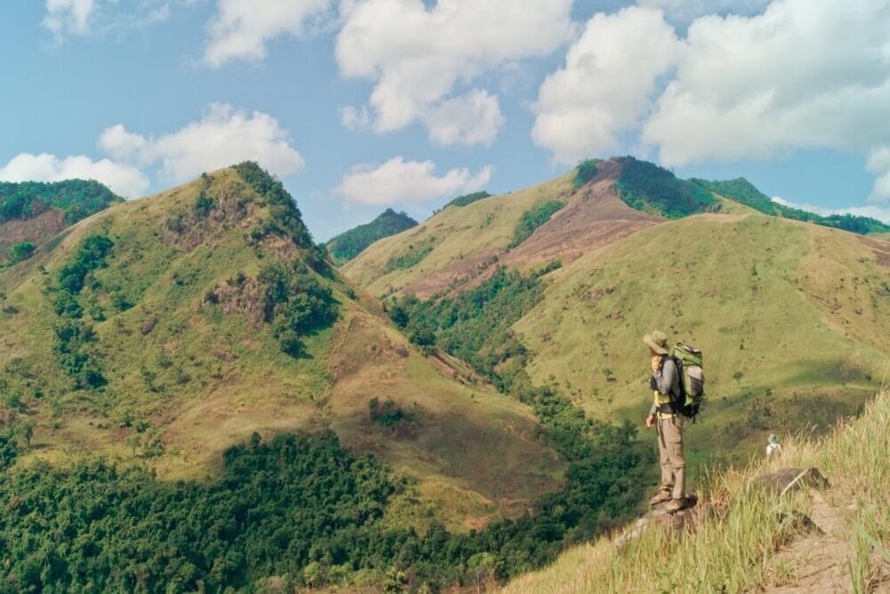
[[[671,395],[681,394],[680,374],[676,363],[667,356],[667,336],[658,330],[643,337],[651,355],[651,377],[654,402],[646,417],[646,427],[656,427],[659,435],[659,462],[661,484],[659,492],[649,500],[651,505],[667,501],[669,514],[684,509],[686,505],[685,469],[683,457],[683,417],[671,408]]]

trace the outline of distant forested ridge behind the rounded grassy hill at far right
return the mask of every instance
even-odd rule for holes
[[[690,181],[699,184],[708,191],[713,191],[728,199],[740,202],[747,207],[754,208],[765,215],[782,216],[795,221],[821,224],[825,227],[843,229],[844,231],[859,233],[860,235],[890,232],[890,225],[881,223],[877,219],[868,216],[821,216],[801,210],[800,208],[779,204],[778,202],[773,201],[773,199],[770,199],[770,197],[766,196],[763,192],[757,190],[753,183],[748,182],[748,180],[743,177],[722,182],[696,178],[693,178]]]

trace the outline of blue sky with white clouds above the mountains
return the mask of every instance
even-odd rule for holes
[[[255,159],[326,240],[634,154],[890,222],[888,30],[887,0],[4,2],[0,180]]]

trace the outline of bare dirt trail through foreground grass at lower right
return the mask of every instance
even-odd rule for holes
[[[837,488],[825,492],[810,489],[810,497],[810,519],[821,533],[808,533],[773,557],[773,570],[790,566],[790,575],[781,580],[790,583],[767,588],[765,591],[770,594],[854,591],[847,565],[854,551],[852,544],[844,540],[848,525],[842,510],[843,501],[850,498]]]

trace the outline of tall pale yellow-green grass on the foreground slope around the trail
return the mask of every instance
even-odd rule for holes
[[[827,436],[805,435],[783,444],[781,460],[753,463],[710,477],[705,500],[716,514],[695,533],[648,530],[624,549],[611,539],[570,549],[537,574],[509,584],[508,592],[740,592],[788,581],[789,567],[774,558],[794,538],[783,524],[806,513],[803,492],[778,495],[751,490],[751,479],[782,467],[816,467],[843,495],[849,527],[833,536],[852,543],[847,568],[855,591],[870,591],[890,574],[890,390],[857,419],[845,419]],[[722,518],[722,519],[721,519]]]

